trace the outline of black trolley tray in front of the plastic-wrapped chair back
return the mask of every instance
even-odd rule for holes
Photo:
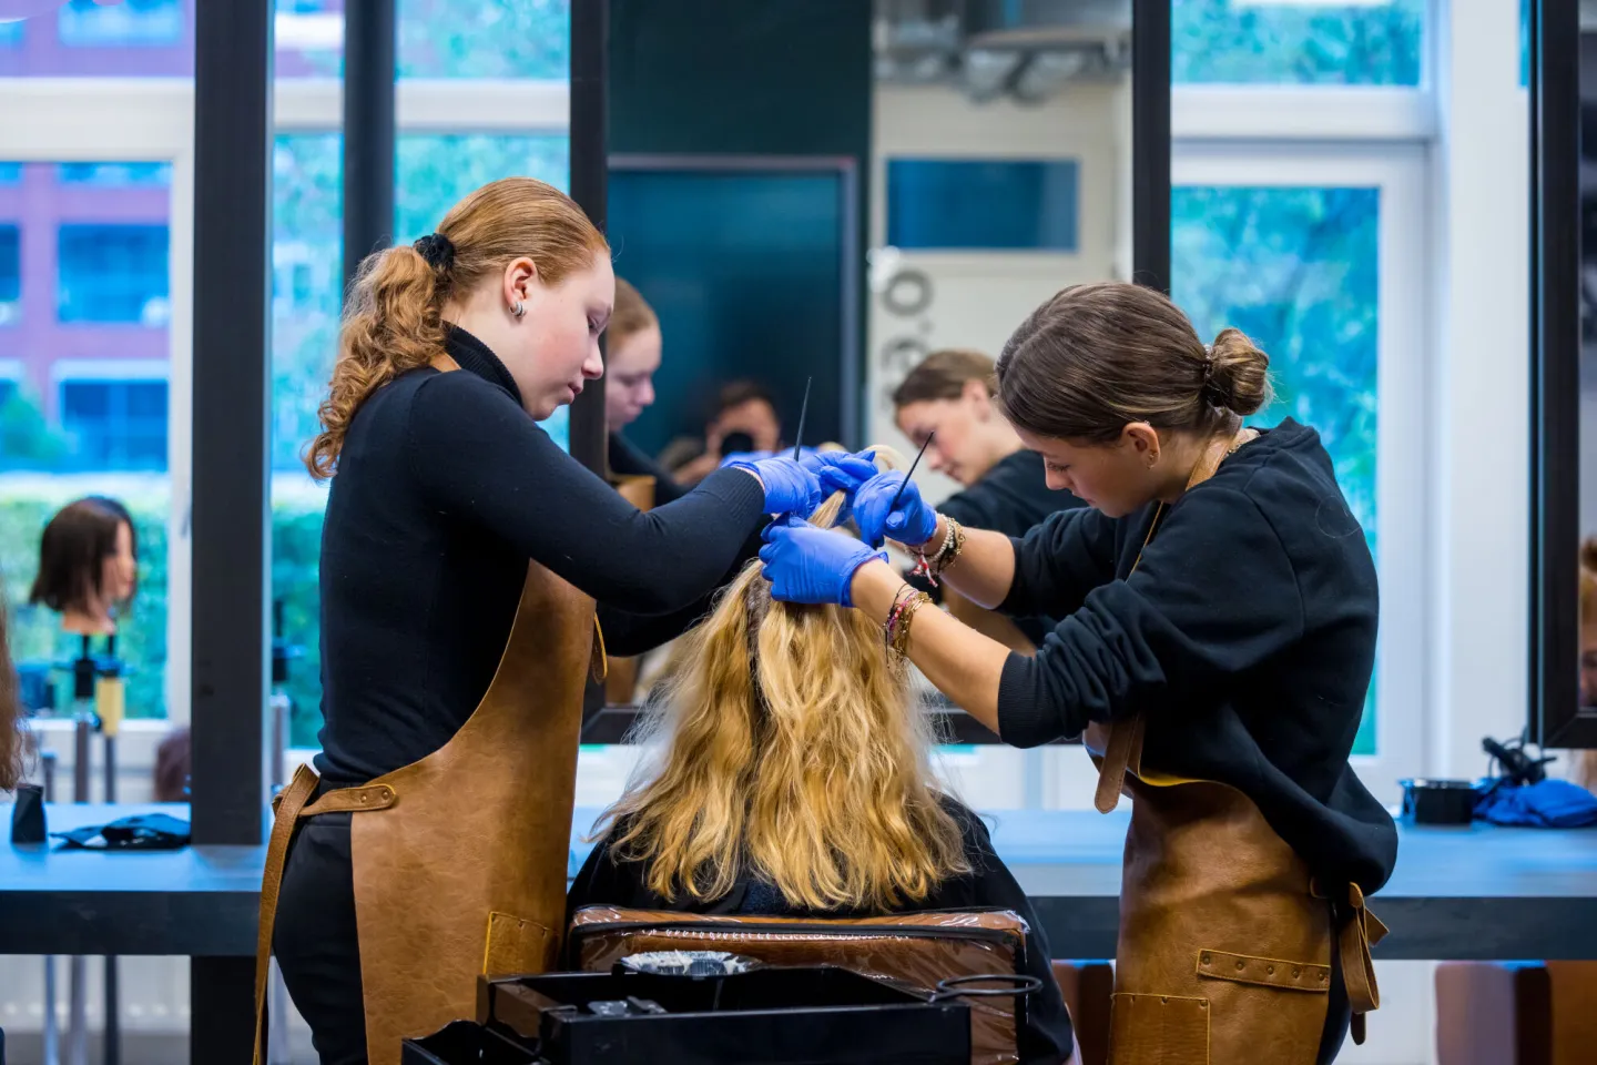
[[[971,1012],[965,1003],[933,1003],[834,966],[767,966],[712,977],[525,976],[490,980],[479,1001],[487,1014],[479,1036],[519,1033],[527,1051],[537,1047],[537,1057],[525,1060],[538,1065],[968,1065],[971,1060]],[[465,1030],[457,1031],[450,1036],[446,1028],[428,1039],[407,1041],[402,1065],[500,1060],[479,1049],[490,1041],[474,1046]],[[444,1046],[444,1036],[457,1043]],[[519,1065],[514,1057],[503,1060]]]

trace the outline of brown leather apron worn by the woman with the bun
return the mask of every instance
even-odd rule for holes
[[[1206,452],[1187,487],[1209,479],[1226,453]],[[1150,540],[1156,530],[1158,516]],[[1137,715],[1094,723],[1084,736],[1099,765],[1097,810],[1115,810],[1121,792],[1132,798],[1110,1065],[1313,1065],[1333,934],[1362,1043],[1364,1014],[1380,1001],[1370,944],[1386,929],[1359,888],[1333,901],[1333,920],[1308,865],[1250,798],[1142,765],[1145,730]]]

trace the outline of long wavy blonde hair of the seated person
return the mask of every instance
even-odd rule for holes
[[[652,757],[600,821],[650,891],[714,901],[747,872],[794,909],[882,912],[969,872],[928,715],[864,613],[776,602],[755,560],[680,663],[650,703]]]

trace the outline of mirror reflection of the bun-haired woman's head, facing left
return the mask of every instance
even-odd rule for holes
[[[893,391],[899,431],[915,447],[931,437],[923,461],[966,487],[1020,450],[1020,437],[993,406],[992,382],[993,361],[985,354],[945,348],[928,354]]]

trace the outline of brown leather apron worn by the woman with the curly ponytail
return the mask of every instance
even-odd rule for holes
[[[457,369],[447,358],[434,366]],[[602,679],[592,599],[532,564],[493,680],[447,744],[310,805],[318,778],[299,768],[273,803],[260,886],[256,1065],[278,888],[300,818],[355,814],[355,921],[372,1065],[398,1065],[401,1039],[476,1016],[478,976],[554,966],[589,667]]]

